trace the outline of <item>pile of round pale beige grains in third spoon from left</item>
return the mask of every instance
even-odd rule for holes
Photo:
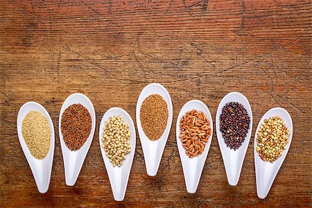
[[[125,155],[131,152],[129,125],[123,122],[122,116],[110,117],[106,122],[102,141],[105,155],[113,166],[121,166]]]

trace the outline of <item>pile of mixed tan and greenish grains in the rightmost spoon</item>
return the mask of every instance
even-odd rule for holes
[[[257,132],[257,153],[267,162],[275,162],[286,149],[289,129],[279,116],[270,117],[261,123]]]

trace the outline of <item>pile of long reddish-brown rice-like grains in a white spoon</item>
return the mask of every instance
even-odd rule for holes
[[[200,155],[211,135],[207,115],[197,110],[187,112],[180,120],[180,139],[190,158]]]

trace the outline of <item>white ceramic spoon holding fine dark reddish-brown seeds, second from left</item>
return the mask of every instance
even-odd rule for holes
[[[83,146],[79,150],[71,151],[69,150],[69,148],[67,148],[63,140],[63,135],[61,131],[62,114],[64,110],[66,110],[67,107],[69,107],[69,105],[78,103],[83,105],[89,111],[89,114],[91,115],[92,119],[92,128],[87,141],[85,141],[85,144],[83,144]],[[80,93],[75,93],[68,96],[62,105],[62,108],[60,110],[60,117],[58,120],[58,132],[60,133],[60,144],[62,148],[65,169],[65,182],[67,186],[73,186],[76,183],[81,167],[83,166],[83,162],[85,161],[85,157],[87,156],[89,147],[92,143],[95,125],[96,125],[95,110],[89,98]]]

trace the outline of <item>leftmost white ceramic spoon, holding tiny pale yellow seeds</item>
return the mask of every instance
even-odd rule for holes
[[[25,119],[25,116],[28,114],[28,112],[32,110],[40,112],[44,116],[46,116],[46,119],[48,119],[51,128],[50,149],[46,157],[44,157],[44,159],[36,159],[35,157],[33,157],[33,155],[31,155],[31,152],[24,141],[23,135],[21,134],[22,122]],[[31,171],[33,172],[33,177],[35,178],[35,182],[37,184],[37,189],[38,191],[40,191],[40,193],[46,193],[46,191],[48,191],[49,189],[51,180],[55,136],[51,117],[42,105],[35,102],[28,102],[21,106],[21,108],[19,109],[19,114],[17,116],[17,135],[19,136],[19,143],[21,144],[21,148],[23,149],[27,162],[29,166],[31,166]]]

